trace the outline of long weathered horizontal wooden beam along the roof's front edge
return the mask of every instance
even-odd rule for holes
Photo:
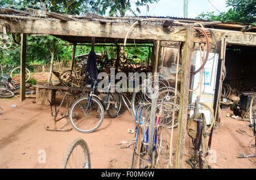
[[[104,37],[125,38],[129,23],[100,23],[88,20],[60,21],[54,19],[0,19],[0,24],[9,24],[10,33],[47,34],[73,37]],[[209,28],[205,28],[209,35],[210,43],[214,44],[213,34]],[[217,41],[226,38],[229,44],[256,46],[256,33],[231,31],[224,29],[212,29]],[[2,32],[2,28],[0,28]],[[161,25],[138,24],[135,25],[128,36],[135,40],[160,40],[160,41],[185,41],[185,27],[172,25],[170,29]],[[193,42],[205,42],[200,32],[193,32]]]

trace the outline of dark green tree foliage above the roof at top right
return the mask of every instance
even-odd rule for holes
[[[214,15],[214,12],[201,13],[197,19],[219,20],[222,22],[240,22],[256,25],[256,1],[255,0],[227,0],[227,12]]]

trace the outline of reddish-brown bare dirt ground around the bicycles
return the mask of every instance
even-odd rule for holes
[[[76,130],[46,131],[47,126],[53,127],[49,105],[37,105],[34,101],[35,98],[26,98],[22,102],[18,97],[0,99],[4,110],[4,114],[0,115],[0,168],[59,168],[65,149],[75,138],[82,138],[88,143],[92,168],[130,168],[133,146],[119,148],[122,145],[116,145],[134,138],[134,134],[127,132],[127,129],[134,129],[134,120],[125,107],[117,118],[111,119],[105,114],[97,131],[82,134]],[[11,105],[16,105],[16,108]],[[63,113],[66,111],[61,109]],[[250,137],[253,132],[246,125],[248,122],[226,117],[227,112],[230,113],[230,110],[221,112],[220,127],[214,130],[212,149],[216,151],[217,162],[210,165],[212,168],[256,168],[256,164],[248,158],[237,158],[237,152],[251,154],[249,148],[244,148],[253,139]],[[67,119],[57,122],[57,128],[63,127],[71,127]],[[250,136],[238,133],[236,130],[239,128]],[[188,135],[186,138],[184,160],[188,159]],[[38,162],[40,149],[46,151],[46,163]],[[256,161],[256,158],[251,160]],[[184,164],[184,168],[189,166]]]

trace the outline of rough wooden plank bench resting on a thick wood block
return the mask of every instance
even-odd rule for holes
[[[32,87],[36,88],[36,104],[46,105],[49,105],[49,101],[51,101],[52,104],[55,104],[56,91],[84,92],[91,90],[89,88],[64,87],[57,85],[32,85]]]

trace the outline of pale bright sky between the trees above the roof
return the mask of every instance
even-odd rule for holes
[[[183,18],[183,2],[183,0],[160,0],[158,3],[149,3],[149,11],[146,11],[146,6],[140,7],[141,14],[138,14],[138,16],[173,16]],[[188,0],[188,18],[196,18],[202,12],[214,11],[217,15],[219,14],[218,11],[228,11],[230,7],[226,7],[225,2],[226,0]],[[135,3],[132,3],[132,9],[136,9]],[[127,12],[126,15],[131,14]]]

